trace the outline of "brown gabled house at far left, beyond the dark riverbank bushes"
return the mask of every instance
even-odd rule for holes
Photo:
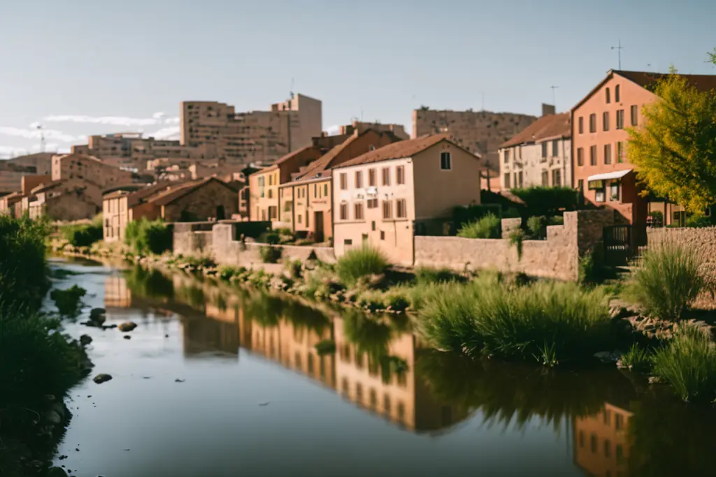
[[[30,218],[48,217],[51,220],[91,219],[100,212],[102,192],[89,180],[67,179],[48,182],[32,190],[27,210]]]

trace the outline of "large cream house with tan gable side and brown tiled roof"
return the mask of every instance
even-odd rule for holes
[[[480,203],[480,156],[436,134],[395,142],[332,169],[337,257],[367,243],[412,265],[413,236],[453,207]]]

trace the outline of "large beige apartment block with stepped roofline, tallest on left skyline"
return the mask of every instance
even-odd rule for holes
[[[180,110],[180,143],[208,147],[227,162],[274,162],[311,145],[321,135],[318,99],[296,94],[268,111],[236,113],[220,102],[185,101]]]

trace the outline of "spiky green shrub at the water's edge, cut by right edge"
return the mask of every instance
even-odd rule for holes
[[[701,330],[686,326],[654,353],[654,375],[686,401],[716,398],[716,348]]]

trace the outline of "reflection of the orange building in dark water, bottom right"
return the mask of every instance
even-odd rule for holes
[[[574,461],[590,476],[627,475],[627,429],[632,413],[610,403],[594,415],[574,420]]]

